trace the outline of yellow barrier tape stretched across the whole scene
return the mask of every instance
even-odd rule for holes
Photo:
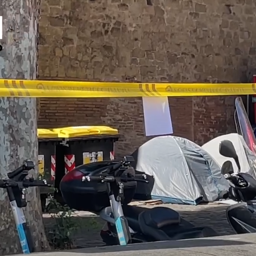
[[[108,98],[256,94],[255,84],[169,84],[0,79],[1,97]]]

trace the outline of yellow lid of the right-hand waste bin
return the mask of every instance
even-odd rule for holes
[[[86,137],[92,135],[116,135],[118,130],[108,126],[70,126],[52,129],[59,138]]]

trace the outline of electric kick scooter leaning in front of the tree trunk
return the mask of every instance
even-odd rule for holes
[[[12,213],[15,219],[20,245],[24,254],[33,253],[34,243],[29,227],[26,224],[26,218],[23,213],[23,207],[26,207],[26,188],[32,186],[51,186],[46,180],[26,179],[28,172],[34,169],[32,161],[24,161],[23,165],[7,174],[9,179],[0,180],[0,188],[6,189],[9,201],[12,207]]]

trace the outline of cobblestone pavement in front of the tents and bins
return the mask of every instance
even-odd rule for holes
[[[196,226],[213,228],[221,236],[234,234],[230,227],[225,210],[228,207],[223,204],[201,204],[198,206],[164,204],[157,206],[142,207],[170,207],[180,213],[180,216]],[[99,236],[99,232],[105,221],[90,212],[76,212],[74,217],[79,224],[79,230],[75,234],[75,244],[79,247],[96,247],[104,243]],[[44,214],[44,223],[46,226],[51,225],[49,214]]]

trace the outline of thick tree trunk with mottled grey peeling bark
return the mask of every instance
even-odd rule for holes
[[[38,0],[1,0],[3,40],[0,78],[36,79]],[[36,99],[0,98],[0,178],[23,163],[38,163]],[[38,170],[33,171],[36,177]],[[36,251],[49,248],[38,189],[27,190],[25,216]],[[6,192],[0,189],[0,255],[20,253],[15,221]]]

